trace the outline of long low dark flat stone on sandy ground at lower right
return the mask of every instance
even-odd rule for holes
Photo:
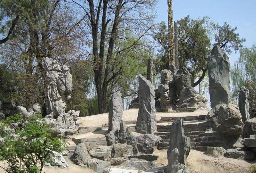
[[[254,152],[250,151],[239,151],[237,149],[229,149],[224,154],[225,157],[239,159],[239,160],[253,160],[255,157]]]

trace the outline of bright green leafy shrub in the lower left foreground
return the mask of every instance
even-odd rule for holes
[[[10,123],[20,122],[16,129],[6,128]],[[63,152],[65,141],[53,138],[51,127],[40,115],[30,117],[24,122],[22,115],[7,117],[1,121],[0,161],[7,163],[2,167],[7,173],[41,173],[44,163],[53,164],[54,152]]]

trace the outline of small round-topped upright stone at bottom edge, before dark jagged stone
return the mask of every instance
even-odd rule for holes
[[[167,173],[177,173],[179,169],[179,151],[173,149],[168,156]]]

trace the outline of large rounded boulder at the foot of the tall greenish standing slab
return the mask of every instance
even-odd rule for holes
[[[208,112],[206,118],[212,120],[213,128],[222,135],[240,136],[242,134],[241,113],[232,103],[218,104]]]

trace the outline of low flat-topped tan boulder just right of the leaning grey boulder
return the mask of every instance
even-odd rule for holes
[[[106,160],[110,156],[111,148],[109,146],[97,145],[90,149],[88,153],[93,158]]]

